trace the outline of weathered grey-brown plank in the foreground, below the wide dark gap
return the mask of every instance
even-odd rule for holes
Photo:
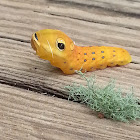
[[[140,123],[99,119],[84,105],[0,84],[0,138],[138,140]]]

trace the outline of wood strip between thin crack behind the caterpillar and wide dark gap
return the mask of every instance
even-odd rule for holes
[[[83,82],[78,75],[66,76],[47,61],[35,57],[30,50],[31,48],[27,48],[29,47],[28,43],[18,43],[17,45],[17,41],[9,43],[7,39],[0,40],[0,82],[61,96],[67,95],[64,86],[70,84],[71,81]],[[15,49],[16,46],[18,49]],[[139,96],[140,71],[137,65],[130,64],[125,67],[107,68],[94,73],[98,75],[98,83],[106,83],[109,77],[114,77],[123,87],[134,86],[136,95]],[[91,74],[88,73],[88,75]]]

